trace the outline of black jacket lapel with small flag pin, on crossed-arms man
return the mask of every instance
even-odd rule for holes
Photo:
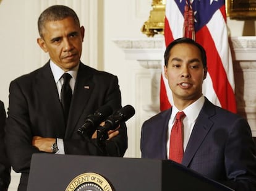
[[[75,81],[74,95],[70,104],[69,120],[67,122],[66,136],[69,137],[79,121],[95,84],[92,81],[93,70],[80,63],[79,72]]]

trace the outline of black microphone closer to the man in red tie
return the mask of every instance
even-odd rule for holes
[[[123,108],[117,110],[116,112],[114,112],[114,114],[106,119],[105,125],[103,125],[102,127],[98,127],[97,138],[100,140],[108,139],[109,130],[116,129],[118,125],[121,124],[121,122],[127,121],[128,119],[130,119],[130,117],[134,116],[134,114],[135,109],[131,105],[126,105]]]

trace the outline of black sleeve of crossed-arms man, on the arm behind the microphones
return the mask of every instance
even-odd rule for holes
[[[99,100],[103,100],[102,103],[96,108],[100,108],[102,105],[109,105],[113,108],[113,111],[121,108],[121,92],[119,90],[117,77],[112,76],[107,84],[106,91],[101,93]],[[97,100],[97,97],[93,98]],[[91,100],[92,101],[92,100]],[[93,102],[92,101],[92,102]],[[92,111],[94,112],[94,111]],[[88,135],[91,137],[91,135]],[[111,138],[111,140],[106,141],[106,145],[103,146],[106,148],[106,153],[101,150],[97,140],[93,139],[64,139],[64,149],[66,154],[75,154],[75,155],[107,155],[107,156],[124,156],[124,153],[127,149],[127,128],[126,124],[122,123],[119,129],[119,134]]]

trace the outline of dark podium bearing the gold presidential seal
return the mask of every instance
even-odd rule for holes
[[[109,185],[103,185],[103,177]],[[85,184],[98,184],[86,189]],[[105,183],[104,183],[105,184]],[[100,187],[100,188],[99,188]],[[110,188],[109,188],[110,187]],[[34,154],[28,191],[231,190],[169,160]]]

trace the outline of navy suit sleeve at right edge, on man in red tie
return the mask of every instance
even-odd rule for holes
[[[239,118],[234,122],[224,150],[228,181],[235,190],[256,190],[256,149],[249,124]]]

